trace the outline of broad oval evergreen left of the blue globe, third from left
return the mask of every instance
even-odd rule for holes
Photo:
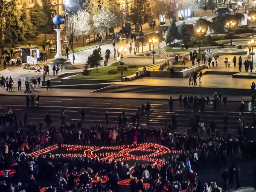
[[[47,25],[47,16],[45,15],[43,8],[38,3],[34,4],[29,13],[31,23],[36,29],[36,35],[39,35],[39,32],[43,32],[45,26]]]

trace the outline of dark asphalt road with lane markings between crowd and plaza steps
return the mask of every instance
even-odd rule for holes
[[[72,91],[72,90],[70,90]],[[173,111],[169,111],[168,100],[153,99],[102,99],[102,98],[58,98],[58,97],[41,97],[39,100],[39,108],[27,108],[24,96],[0,96],[0,113],[6,113],[7,109],[12,109],[16,114],[28,114],[29,122],[44,121],[45,114],[51,115],[52,122],[58,124],[60,122],[61,109],[65,111],[65,120],[67,122],[79,122],[81,110],[86,112],[85,123],[103,123],[105,124],[105,112],[109,113],[109,124],[117,124],[118,116],[124,109],[127,111],[128,122],[131,122],[131,115],[136,111],[142,103],[151,104],[150,116],[144,116],[140,119],[140,125],[144,126],[163,126],[165,122],[170,122],[172,115],[177,117],[178,128],[189,127],[189,116],[191,109],[183,109],[179,106],[178,101],[174,101]],[[217,125],[223,125],[223,115],[229,116],[228,127],[236,129],[238,124],[240,102],[227,102],[227,105],[220,105],[214,111],[212,104],[206,107],[206,111],[199,112],[207,127],[212,119]],[[247,105],[247,104],[246,104]],[[247,121],[252,121],[252,114],[244,113]]]

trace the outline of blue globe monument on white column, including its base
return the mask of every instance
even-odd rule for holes
[[[64,23],[64,17],[61,15],[54,15],[52,17],[52,23],[57,26],[56,29],[54,29],[56,31],[56,41],[57,41],[57,46],[56,46],[56,55],[54,57],[54,60],[49,61],[47,64],[49,66],[52,65],[59,65],[59,67],[61,69],[73,69],[74,66],[71,64],[70,61],[67,61],[64,59],[64,57],[61,54],[61,28],[60,25],[62,25]]]

